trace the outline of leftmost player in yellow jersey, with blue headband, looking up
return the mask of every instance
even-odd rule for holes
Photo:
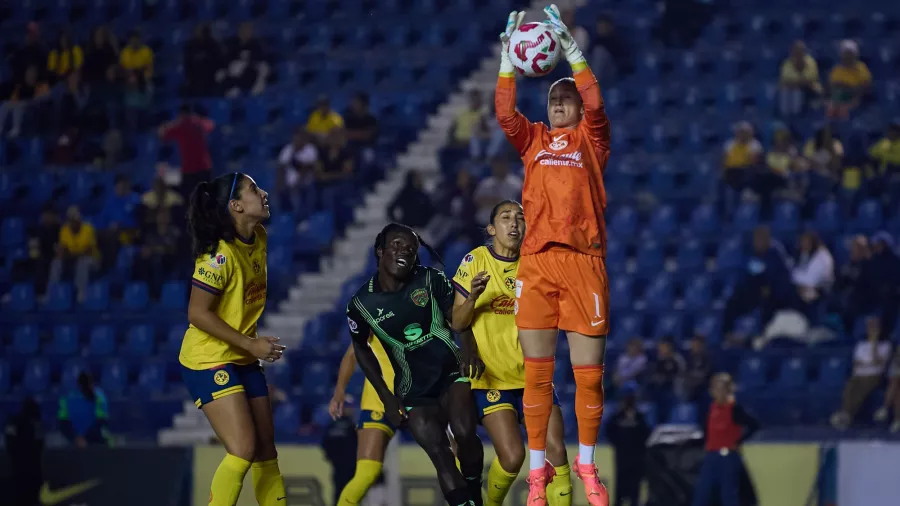
[[[260,337],[266,306],[268,194],[235,172],[197,185],[188,210],[194,276],[184,334],[182,375],[197,407],[225,445],[209,504],[234,506],[253,472],[260,506],[284,506],[275,429],[260,360],[281,358],[277,337]]]

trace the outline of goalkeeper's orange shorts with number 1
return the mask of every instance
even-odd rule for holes
[[[609,333],[609,282],[603,258],[550,248],[519,259],[516,326],[587,336]]]

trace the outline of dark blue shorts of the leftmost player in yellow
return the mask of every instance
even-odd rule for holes
[[[198,408],[240,392],[246,393],[248,399],[269,395],[266,375],[259,362],[247,365],[223,364],[200,371],[181,366],[181,376]]]

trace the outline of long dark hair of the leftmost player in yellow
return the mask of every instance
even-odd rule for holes
[[[219,241],[237,237],[228,203],[240,198],[241,180],[246,177],[234,172],[203,181],[194,188],[188,207],[188,231],[195,257],[212,255]]]

